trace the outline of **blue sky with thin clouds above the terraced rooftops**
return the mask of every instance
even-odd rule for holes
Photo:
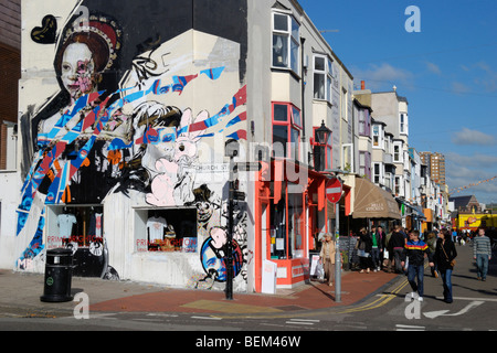
[[[496,0],[299,0],[355,77],[409,101],[410,147],[445,154],[450,189],[497,175]],[[420,32],[408,32],[409,6]],[[453,195],[497,203],[497,178]]]

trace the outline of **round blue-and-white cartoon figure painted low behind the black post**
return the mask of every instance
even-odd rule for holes
[[[212,278],[216,281],[225,281],[226,272],[226,247],[228,234],[223,227],[212,227],[210,237],[203,242],[200,252],[202,267],[207,274],[205,279]],[[233,240],[233,276],[236,277],[243,265],[243,255],[239,244]]]

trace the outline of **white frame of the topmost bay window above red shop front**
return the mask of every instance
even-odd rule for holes
[[[281,30],[275,29],[275,18],[276,15],[286,17],[287,20],[287,29]],[[272,49],[271,49],[271,55],[272,55],[272,67],[275,68],[283,68],[283,69],[289,69],[293,71],[295,74],[300,74],[300,23],[295,19],[295,17],[292,13],[287,12],[281,12],[281,11],[273,11],[272,13]],[[294,31],[294,25],[296,26],[296,33]],[[274,58],[274,36],[279,35],[283,36],[286,41],[286,57],[287,63],[285,64],[283,62],[282,65],[275,65],[275,58]],[[292,54],[292,51],[296,49],[297,53],[294,57]],[[284,56],[282,56],[284,57]]]

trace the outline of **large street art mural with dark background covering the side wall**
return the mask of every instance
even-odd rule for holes
[[[204,275],[225,280],[225,184],[205,183],[200,167],[223,152],[212,151],[216,139],[246,139],[246,1],[84,0],[65,19],[44,10],[31,40],[54,47],[59,89],[41,90],[45,101],[20,118],[17,267],[45,248],[45,206],[118,193],[137,206],[195,206]],[[245,280],[246,211],[236,218],[235,274]],[[107,249],[103,239],[89,247]],[[102,277],[118,274],[108,265]]]

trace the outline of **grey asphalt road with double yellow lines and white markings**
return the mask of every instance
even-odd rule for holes
[[[454,302],[442,301],[442,282],[425,269],[424,301],[405,298],[411,291],[405,276],[399,276],[383,292],[351,307],[267,314],[192,313],[89,313],[74,317],[22,318],[3,313],[0,330],[43,331],[172,331],[283,332],[299,335],[325,331],[494,331],[497,330],[497,261],[490,261],[487,281],[476,279],[470,245],[457,246],[453,274]],[[364,274],[364,276],[368,276]]]

